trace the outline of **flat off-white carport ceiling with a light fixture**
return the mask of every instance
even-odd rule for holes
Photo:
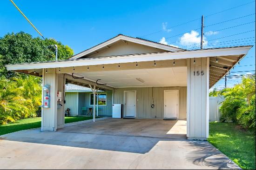
[[[112,87],[187,86],[187,67],[76,73]]]

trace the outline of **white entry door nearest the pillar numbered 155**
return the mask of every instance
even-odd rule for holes
[[[179,90],[164,91],[164,118],[178,118]]]

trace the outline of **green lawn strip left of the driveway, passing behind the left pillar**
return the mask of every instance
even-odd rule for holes
[[[92,116],[76,116],[76,117],[65,117],[65,124],[78,122],[82,120],[92,119]],[[101,118],[101,117],[96,117]],[[12,133],[14,131],[22,131],[26,129],[33,129],[41,127],[41,118],[26,118],[16,121],[15,123],[0,125],[0,135]]]

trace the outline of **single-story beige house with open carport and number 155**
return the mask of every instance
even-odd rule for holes
[[[122,104],[123,117],[186,119],[187,137],[206,139],[209,88],[251,47],[189,51],[119,34],[67,60],[6,67],[43,78],[42,131],[64,127],[63,92],[69,83],[90,88],[94,108],[97,91],[111,91],[106,100]],[[78,102],[79,99],[78,95]],[[95,109],[93,112],[95,117]],[[111,115],[111,110],[108,114]]]

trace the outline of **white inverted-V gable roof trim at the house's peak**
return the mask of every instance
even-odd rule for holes
[[[137,43],[137,44],[140,44],[140,45],[144,45],[144,46],[150,46],[150,47],[154,47],[154,48],[158,48],[158,49],[162,49],[162,50],[166,50],[168,52],[179,52],[179,51],[185,51],[184,49],[182,48],[177,48],[177,47],[174,47],[174,46],[168,46],[168,45],[164,45],[164,44],[160,44],[160,43],[157,43],[157,42],[154,42],[154,41],[149,41],[147,39],[140,39],[140,38],[134,38],[134,37],[129,37],[129,36],[126,36],[126,35],[122,35],[122,34],[119,34],[117,35],[116,37],[112,38],[112,39],[108,39],[107,41],[97,45],[97,46],[94,46],[94,47],[91,47],[83,52],[80,52],[74,56],[72,56],[70,59],[79,59],[89,53],[92,53],[92,52],[96,52],[97,50],[100,50],[104,47],[109,47],[109,45],[119,41],[119,40],[122,40],[122,41],[129,41],[129,42],[133,42],[133,43]]]

